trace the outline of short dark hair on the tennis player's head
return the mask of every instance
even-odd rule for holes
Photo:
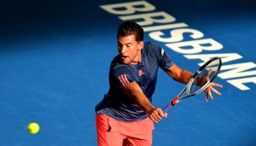
[[[117,38],[119,39],[119,37],[127,37],[132,34],[135,35],[136,41],[143,41],[143,28],[136,22],[126,21],[119,26]]]

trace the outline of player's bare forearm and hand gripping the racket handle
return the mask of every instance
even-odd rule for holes
[[[155,108],[148,97],[143,94],[142,89],[136,82],[131,82],[130,84],[125,85],[124,91],[126,95],[130,96],[131,99],[137,103],[139,108],[149,114],[150,120],[158,122],[162,120],[163,117],[167,117],[167,114],[163,114],[161,108]]]

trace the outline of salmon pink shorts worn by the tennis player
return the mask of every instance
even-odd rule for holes
[[[136,122],[115,120],[96,114],[98,146],[151,146],[155,126],[148,118]]]

